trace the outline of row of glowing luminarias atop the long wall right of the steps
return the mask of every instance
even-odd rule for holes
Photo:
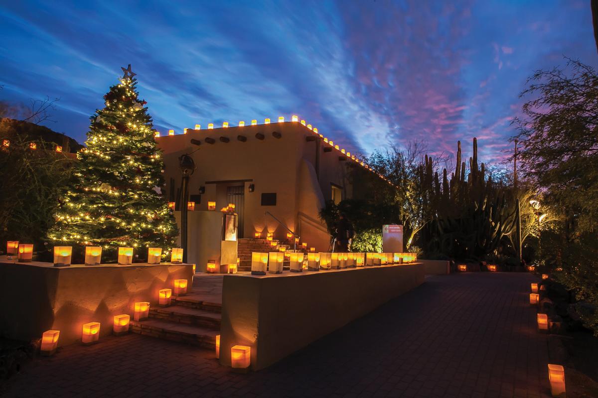
[[[355,267],[385,266],[392,264],[410,264],[417,260],[415,253],[328,253],[302,252],[288,253],[291,272],[345,269]],[[285,258],[283,252],[253,252],[251,255],[251,273],[265,275],[266,272],[282,273]]]

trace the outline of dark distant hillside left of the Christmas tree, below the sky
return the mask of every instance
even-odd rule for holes
[[[53,131],[45,126],[23,122],[16,119],[0,118],[0,137],[10,138],[14,135],[26,135],[31,140],[44,140],[62,146],[63,152],[75,153],[83,145],[68,135]]]

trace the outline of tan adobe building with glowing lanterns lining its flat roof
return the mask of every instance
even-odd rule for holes
[[[359,189],[362,173],[370,173],[355,155],[346,153],[317,128],[298,121],[251,124],[238,127],[185,129],[185,134],[157,137],[163,150],[166,198],[176,203],[175,215],[184,203],[181,198],[182,174],[179,156],[190,154],[196,170],[190,178],[188,201],[188,235],[203,239],[205,217],[196,212],[208,211],[215,202],[216,211],[234,203],[238,214],[238,237],[265,239],[273,233],[275,240],[286,241],[289,230],[316,251],[328,251],[331,236],[319,212],[327,200],[338,203],[347,198],[359,199],[366,194]],[[225,125],[228,125],[225,123]],[[179,222],[180,227],[180,222]],[[189,242],[191,246],[197,242]],[[203,270],[203,260],[196,262]],[[223,263],[224,264],[224,263]]]

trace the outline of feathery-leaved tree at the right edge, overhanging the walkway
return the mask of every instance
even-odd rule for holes
[[[532,99],[515,120],[517,159],[562,221],[540,233],[538,264],[589,303],[579,313],[598,335],[598,75],[569,59],[534,73],[521,96]]]

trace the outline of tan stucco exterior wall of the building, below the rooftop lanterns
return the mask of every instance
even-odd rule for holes
[[[279,132],[282,137],[273,137],[273,131]],[[258,132],[264,134],[264,140],[255,137]],[[243,135],[247,140],[239,141],[237,135]],[[222,143],[220,137],[229,138],[230,141]],[[271,212],[289,229],[295,231],[298,228],[297,214],[300,208],[303,208],[303,212],[309,217],[318,220],[320,206],[323,206],[322,203],[312,203],[312,206],[300,205],[300,195],[331,199],[331,183],[344,187],[344,198],[350,198],[352,195],[347,178],[347,164],[351,161],[339,161],[338,156],[341,153],[338,150],[324,152],[324,147],[328,144],[323,142],[317,147],[320,158],[319,181],[316,179],[315,184],[302,186],[301,164],[306,161],[315,168],[318,145],[314,141],[307,142],[306,137],[315,137],[315,134],[298,122],[274,122],[269,125],[197,131],[189,129],[187,134],[159,137],[156,141],[164,152],[167,198],[174,200],[174,197],[170,198],[170,193],[176,196],[181,187],[178,157],[182,153],[191,153],[199,148],[191,155],[197,169],[191,177],[189,192],[190,195],[197,195],[199,187],[205,186],[205,194],[202,195],[202,202],[196,205],[196,209],[207,209],[209,200],[216,200],[216,209],[227,205],[225,194],[222,193],[225,187],[210,182],[240,181],[238,184],[243,185],[245,193],[243,235],[253,237],[255,230],[258,230],[273,232],[274,239],[284,239],[286,230],[279,227],[276,221],[264,212]],[[191,138],[200,140],[202,144],[199,147],[192,145]],[[215,143],[206,143],[206,138],[213,138]],[[174,181],[174,189],[171,189],[171,178]],[[254,184],[255,192],[249,192],[249,184]],[[302,192],[304,189],[309,189],[310,192]],[[261,194],[273,192],[277,194],[276,206],[261,206]],[[306,207],[309,208],[307,211]],[[312,240],[325,240],[320,236],[321,233],[315,233],[316,236],[311,239],[310,236],[305,236],[310,246]],[[320,245],[321,243],[318,243],[318,246]]]

